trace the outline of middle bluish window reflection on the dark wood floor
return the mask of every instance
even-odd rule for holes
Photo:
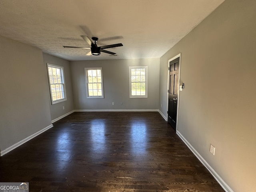
[[[105,120],[96,119],[91,122],[92,150],[102,153],[105,150]]]

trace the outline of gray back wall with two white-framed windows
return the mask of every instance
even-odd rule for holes
[[[159,61],[159,58],[72,61],[74,108],[78,110],[158,109]],[[148,66],[148,98],[129,98],[129,66]],[[84,73],[86,67],[102,67],[104,98],[86,98]],[[112,102],[115,104],[112,105]]]

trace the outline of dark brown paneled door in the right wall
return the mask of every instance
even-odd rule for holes
[[[168,122],[176,131],[180,57],[169,62]]]

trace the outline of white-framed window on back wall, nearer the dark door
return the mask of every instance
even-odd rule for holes
[[[129,67],[130,98],[148,97],[148,66]]]

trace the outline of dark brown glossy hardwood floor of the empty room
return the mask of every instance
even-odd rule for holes
[[[0,157],[30,192],[224,192],[158,112],[74,112]]]

